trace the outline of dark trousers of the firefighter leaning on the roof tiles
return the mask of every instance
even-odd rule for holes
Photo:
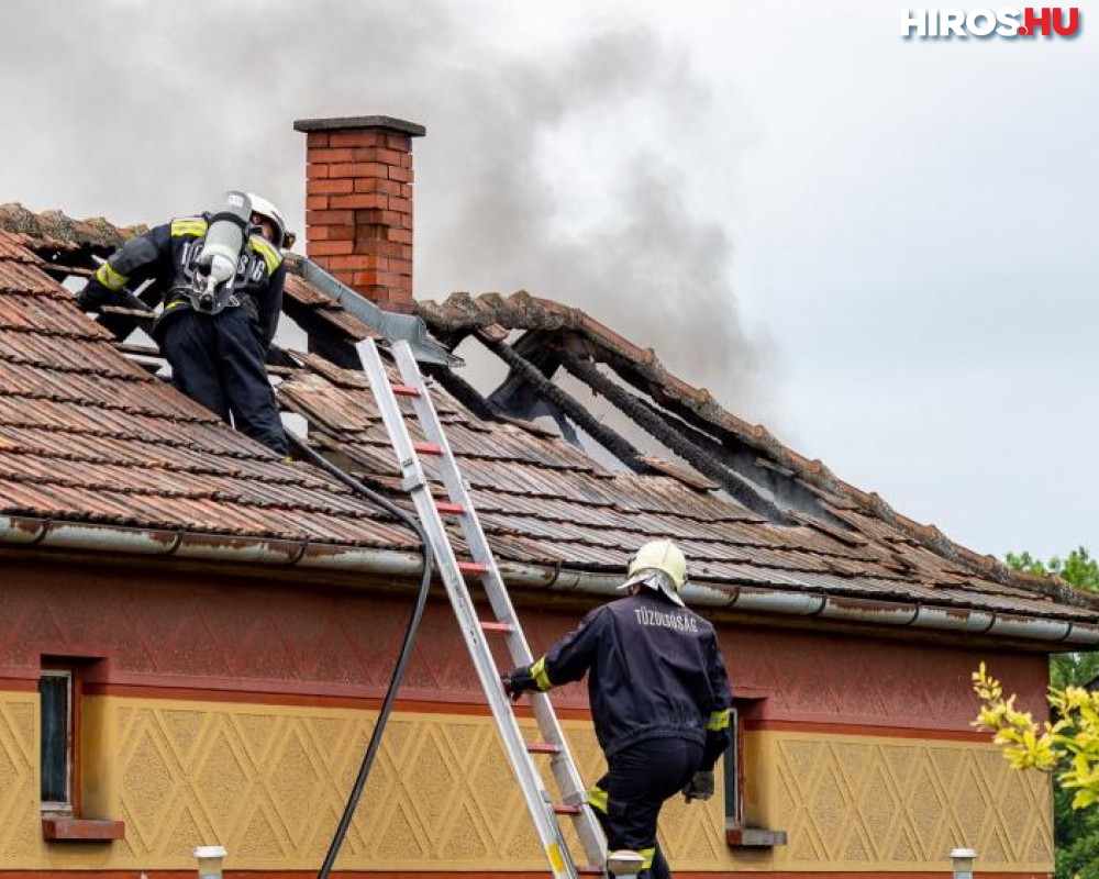
[[[158,327],[176,387],[278,455],[287,454],[264,345],[243,309],[199,314],[184,308]]]

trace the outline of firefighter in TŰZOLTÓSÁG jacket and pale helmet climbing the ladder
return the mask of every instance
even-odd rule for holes
[[[628,598],[591,611],[541,659],[503,676],[517,699],[588,675],[608,766],[588,800],[607,832],[611,869],[632,852],[652,879],[671,875],[656,843],[660,806],[677,791],[710,799],[713,766],[730,742],[724,660],[713,626],[679,597],[686,581],[687,559],[671,541],[646,543],[619,587]]]

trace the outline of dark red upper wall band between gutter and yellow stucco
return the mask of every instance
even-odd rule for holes
[[[0,675],[36,677],[38,655],[109,655],[108,682],[237,691],[378,696],[388,683],[411,596],[296,588],[158,572],[5,563]],[[579,611],[520,608],[535,654]],[[985,659],[1022,708],[1045,710],[1046,660],[792,630],[721,627],[734,690],[766,696],[759,716],[969,730],[969,674]],[[857,649],[853,649],[857,645]],[[429,604],[402,694],[484,696],[449,605]],[[556,701],[587,703],[582,686]]]

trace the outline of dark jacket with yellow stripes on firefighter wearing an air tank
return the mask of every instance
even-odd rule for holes
[[[101,298],[109,298],[126,285],[136,289],[152,280],[164,298],[164,311],[154,326],[154,335],[158,335],[157,330],[167,321],[191,308],[186,291],[191,287],[207,227],[206,215],[187,216],[132,238],[99,267],[89,288],[98,285]],[[279,251],[260,235],[248,236],[233,288],[240,307],[255,322],[265,348],[278,327],[285,278],[286,265]]]

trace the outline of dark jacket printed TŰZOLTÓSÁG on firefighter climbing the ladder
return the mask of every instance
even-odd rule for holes
[[[648,590],[591,611],[528,670],[543,692],[588,672],[608,758],[644,738],[674,736],[703,745],[709,770],[729,745],[731,693],[713,626]]]

